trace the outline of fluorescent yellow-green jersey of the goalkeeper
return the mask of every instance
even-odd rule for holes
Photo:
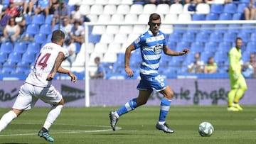
[[[234,78],[238,78],[238,76],[241,74],[241,64],[240,59],[242,57],[241,50],[237,48],[232,48],[228,52],[228,57],[230,60],[230,70],[229,74],[232,74]]]

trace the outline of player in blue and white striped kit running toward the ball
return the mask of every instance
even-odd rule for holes
[[[166,45],[166,35],[159,31],[161,26],[161,17],[159,14],[151,13],[148,25],[149,30],[140,35],[137,40],[134,40],[134,42],[128,46],[124,56],[124,69],[127,77],[133,77],[134,72],[129,67],[129,57],[133,50],[139,49],[142,53],[142,63],[139,69],[141,80],[137,86],[139,96],[128,101],[124,106],[117,109],[117,111],[110,111],[110,125],[113,131],[116,129],[115,127],[120,116],[146,104],[151,92],[155,90],[164,96],[161,99],[161,109],[159,121],[156,123],[156,129],[164,131],[165,133],[174,133],[174,130],[169,128],[166,123],[166,116],[169,112],[174,92],[158,73],[159,60],[161,59],[162,52],[166,55],[178,56],[185,55],[189,50],[184,49],[181,52],[175,52]]]

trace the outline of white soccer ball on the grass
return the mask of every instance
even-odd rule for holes
[[[211,136],[211,135],[213,135],[213,131],[214,131],[214,128],[211,123],[206,122],[206,121],[203,123],[200,123],[198,133],[201,136],[203,136],[203,137]]]

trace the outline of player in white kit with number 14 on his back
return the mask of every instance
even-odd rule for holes
[[[53,122],[60,115],[63,108],[64,99],[52,85],[52,80],[57,72],[68,74],[73,82],[77,82],[77,77],[70,71],[61,67],[61,63],[68,57],[68,50],[63,48],[65,34],[63,31],[53,31],[51,43],[47,43],[41,49],[33,70],[28,74],[26,81],[21,86],[14,106],[11,111],[4,114],[0,120],[0,132],[6,128],[23,111],[33,108],[38,99],[47,104],[51,104],[50,111],[43,124],[43,128],[38,132],[38,136],[53,142],[48,130]]]

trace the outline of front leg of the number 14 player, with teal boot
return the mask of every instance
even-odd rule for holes
[[[41,94],[45,92],[45,95],[39,96],[40,99],[48,104],[52,104],[52,107],[50,107],[50,110],[48,111],[46,121],[43,124],[43,128],[41,128],[41,130],[38,132],[38,136],[53,142],[54,139],[49,135],[49,129],[60,115],[60,112],[63,109],[64,99],[63,96],[53,86],[43,89],[38,87],[37,91],[41,92]]]

